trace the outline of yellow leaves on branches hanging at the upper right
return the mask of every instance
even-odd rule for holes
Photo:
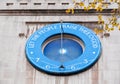
[[[107,9],[112,3],[118,5],[118,8],[112,9],[111,16],[106,21],[101,12]],[[93,0],[93,2],[87,5],[85,4],[85,0],[82,2],[73,0],[73,4],[74,7],[66,10],[67,14],[74,14],[75,9],[83,9],[86,12],[93,9],[98,13],[98,24],[103,28],[94,28],[96,34],[110,32],[116,28],[120,30],[120,23],[118,22],[118,18],[120,18],[120,0],[110,0],[110,3],[105,3],[104,0]]]

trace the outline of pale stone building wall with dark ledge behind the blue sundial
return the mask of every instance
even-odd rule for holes
[[[86,0],[90,3],[92,0]],[[106,0],[106,3],[109,3]],[[33,68],[26,59],[25,44],[31,34],[52,23],[71,22],[90,29],[100,28],[98,13],[76,10],[66,14],[73,6],[71,0],[3,0],[0,2],[0,84],[120,84],[120,33],[115,29],[109,37],[98,35],[102,54],[90,69],[71,76],[52,76]],[[103,11],[110,17],[112,3]]]

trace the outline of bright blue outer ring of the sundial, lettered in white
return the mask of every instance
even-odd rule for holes
[[[53,74],[71,74],[94,64],[101,54],[101,43],[94,32],[84,26],[72,23],[63,23],[62,27],[64,33],[77,36],[84,42],[84,51],[79,53],[76,59],[66,62],[54,61],[45,56],[42,52],[42,44],[50,36],[61,32],[60,23],[51,24],[39,29],[28,39],[26,57],[29,62],[34,67]],[[60,69],[61,65],[64,66],[64,69]]]

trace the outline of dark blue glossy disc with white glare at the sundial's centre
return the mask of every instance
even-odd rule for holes
[[[64,38],[61,48],[61,39],[51,41],[44,48],[44,55],[51,60],[67,62],[78,58],[82,52],[82,46],[74,40]]]

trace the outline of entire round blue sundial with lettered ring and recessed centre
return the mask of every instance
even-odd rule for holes
[[[36,31],[26,43],[26,57],[50,74],[73,74],[93,65],[101,53],[98,37],[88,28],[57,23]]]

